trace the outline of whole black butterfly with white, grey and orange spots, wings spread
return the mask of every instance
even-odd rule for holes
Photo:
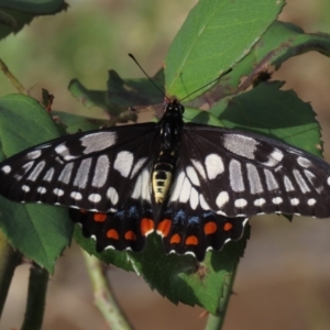
[[[0,164],[0,195],[69,208],[106,249],[142,251],[148,234],[166,253],[202,261],[239,240],[263,213],[330,217],[330,166],[266,136],[185,123],[168,99],[158,123],[79,132]]]

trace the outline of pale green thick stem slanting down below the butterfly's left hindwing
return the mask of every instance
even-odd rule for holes
[[[95,305],[102,314],[109,328],[111,330],[133,329],[111,293],[111,287],[105,277],[101,262],[85,251],[82,251],[82,255],[94,289]]]

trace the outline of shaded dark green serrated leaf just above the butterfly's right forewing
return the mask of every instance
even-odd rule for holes
[[[248,130],[277,138],[321,156],[320,127],[309,103],[293,90],[279,90],[280,81],[222,99],[209,111],[230,129]]]

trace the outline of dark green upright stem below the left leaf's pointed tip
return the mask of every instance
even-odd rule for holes
[[[42,328],[48,272],[36,264],[30,270],[26,311],[21,330],[38,330]]]

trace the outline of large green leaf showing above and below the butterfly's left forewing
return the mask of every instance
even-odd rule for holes
[[[0,98],[2,160],[58,136],[56,124],[33,98]],[[1,160],[0,160],[1,161]],[[0,197],[0,228],[11,244],[48,272],[70,242],[73,223],[67,210],[44,205],[20,205]]]

